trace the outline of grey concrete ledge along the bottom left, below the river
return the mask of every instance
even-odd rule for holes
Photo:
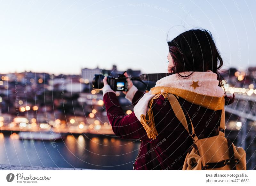
[[[39,166],[16,166],[0,164],[0,170],[95,170],[84,168],[62,168],[62,167],[39,167]]]

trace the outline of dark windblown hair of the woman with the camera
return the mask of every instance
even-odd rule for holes
[[[188,30],[168,42],[168,46],[174,62],[174,66],[171,69],[174,73],[178,73],[182,78],[187,78],[195,71],[206,72],[211,70],[217,74],[219,86],[223,86],[222,80],[224,78],[219,72],[223,65],[223,60],[210,31],[204,29]],[[192,73],[188,76],[179,74],[186,71],[192,71]],[[224,94],[225,105],[234,102],[234,94],[228,97],[225,90]]]

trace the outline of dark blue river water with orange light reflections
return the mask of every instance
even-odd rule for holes
[[[0,164],[132,170],[140,143],[116,137],[68,135],[50,141],[20,140],[18,135],[0,133]]]

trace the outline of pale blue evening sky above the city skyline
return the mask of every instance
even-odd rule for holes
[[[256,1],[0,0],[0,73],[167,71],[167,40],[212,32],[224,67],[256,65]]]

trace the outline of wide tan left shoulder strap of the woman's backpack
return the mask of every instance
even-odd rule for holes
[[[196,141],[197,136],[195,134],[194,126],[190,120],[190,117],[188,116],[188,113],[186,113],[186,116],[187,116],[186,117],[176,96],[174,96],[173,94],[168,94],[167,98],[170,102],[170,105],[172,106],[172,110],[175,116],[177,117],[177,119],[180,121],[183,127],[187,130],[189,136],[192,137],[193,141]],[[189,121],[189,125],[187,120]]]

